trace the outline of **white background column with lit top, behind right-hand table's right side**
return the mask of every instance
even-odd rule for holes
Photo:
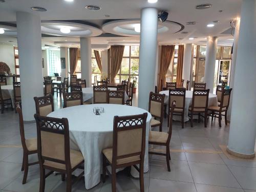
[[[214,92],[214,72],[217,52],[217,37],[208,37],[206,44],[204,82],[210,93]]]

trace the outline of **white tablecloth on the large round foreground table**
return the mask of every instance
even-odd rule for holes
[[[95,115],[93,113],[95,106],[102,106],[104,113],[99,116]],[[86,188],[90,189],[100,182],[102,150],[112,146],[114,116],[138,115],[145,112],[147,111],[129,105],[89,104],[60,109],[50,113],[48,116],[68,118],[70,140],[71,143],[77,145],[85,159],[84,180]],[[151,118],[151,114],[148,113],[144,172],[148,171],[148,132],[150,131]],[[71,148],[76,147],[71,146]]]

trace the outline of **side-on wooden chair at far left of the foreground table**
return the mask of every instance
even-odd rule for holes
[[[20,133],[20,138],[22,140],[22,148],[23,148],[22,171],[24,170],[24,176],[23,176],[22,184],[25,184],[27,182],[29,166],[38,164],[38,161],[29,163],[29,155],[37,153],[37,139],[25,138],[22,109],[20,108],[20,104],[18,102],[16,102],[15,105],[16,105],[16,111],[19,117],[19,133]]]

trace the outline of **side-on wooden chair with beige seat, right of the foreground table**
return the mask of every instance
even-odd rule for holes
[[[170,138],[172,137],[172,131],[173,131],[173,113],[175,110],[175,100],[172,102],[172,105],[170,105],[170,115],[169,115],[169,130],[168,133],[165,132],[156,132],[156,131],[150,131],[149,138],[148,138],[148,144],[153,145],[161,145],[166,146],[166,152],[160,153],[160,152],[154,152],[154,150],[150,150],[148,153],[152,155],[161,155],[166,157],[166,163],[167,163],[167,169],[168,172],[170,172]]]

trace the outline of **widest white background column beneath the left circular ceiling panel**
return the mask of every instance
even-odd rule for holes
[[[86,79],[87,87],[92,84],[92,49],[91,39],[80,37],[81,78]]]

